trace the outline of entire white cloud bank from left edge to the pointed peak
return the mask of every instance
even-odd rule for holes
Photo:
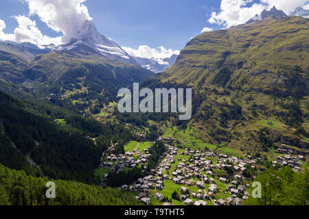
[[[24,0],[30,10],[30,16],[36,14],[54,31],[62,32],[61,37],[51,38],[41,33],[36,22],[24,15],[12,16],[18,27],[14,34],[5,34],[5,23],[0,19],[0,40],[32,42],[34,44],[62,44],[77,36],[85,21],[91,20],[88,9],[83,5],[86,0]]]

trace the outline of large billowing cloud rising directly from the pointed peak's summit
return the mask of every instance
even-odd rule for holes
[[[25,0],[30,15],[37,14],[48,27],[62,32],[64,43],[77,36],[84,22],[92,19],[87,7],[83,5],[84,1]]]

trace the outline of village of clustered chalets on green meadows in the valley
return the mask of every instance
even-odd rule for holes
[[[142,137],[142,134],[140,134]],[[250,182],[261,157],[232,156],[218,151],[189,149],[174,146],[174,139],[165,137],[158,141],[165,145],[157,168],[150,175],[139,178],[119,190],[134,192],[145,205],[242,205],[251,195]],[[112,142],[111,142],[112,143]],[[109,152],[100,166],[104,170],[104,184],[110,172],[122,172],[141,167],[146,170],[149,150],[155,142],[130,142],[124,155]],[[282,145],[284,146],[284,145]],[[110,148],[113,151],[113,143]],[[303,155],[291,155],[293,151],[277,149],[282,155],[272,162],[273,166],[291,166],[295,172],[301,169]]]

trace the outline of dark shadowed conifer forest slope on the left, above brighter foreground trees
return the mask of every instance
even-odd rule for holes
[[[33,108],[0,92],[1,164],[34,175],[93,183],[98,182],[93,169],[111,140],[119,143],[115,153],[124,153],[124,144],[133,138],[121,125],[70,114],[64,115],[66,125],[57,125],[51,116]],[[98,144],[90,139],[98,137]]]

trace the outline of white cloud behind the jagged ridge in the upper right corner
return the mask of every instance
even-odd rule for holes
[[[271,9],[275,5],[278,10],[288,12],[308,3],[308,0],[260,0],[259,3],[252,3],[253,0],[222,0],[220,12],[212,12],[209,23],[216,23],[231,27],[249,21],[255,14],[260,14],[264,9]]]

